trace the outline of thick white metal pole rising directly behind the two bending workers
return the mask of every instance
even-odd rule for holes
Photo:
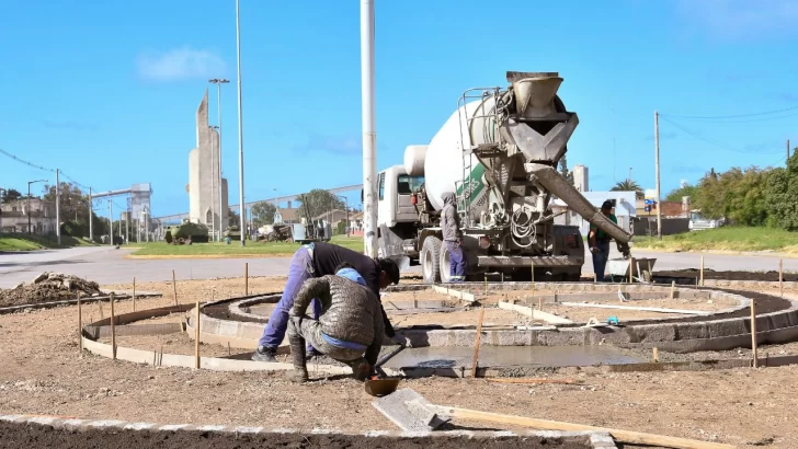
[[[361,94],[363,111],[363,240],[377,257],[377,131],[374,101],[374,0],[361,0]]]

